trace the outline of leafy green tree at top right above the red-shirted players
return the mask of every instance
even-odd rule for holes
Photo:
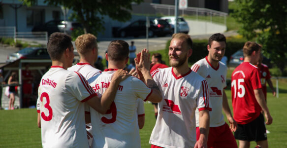
[[[255,37],[263,55],[273,61],[282,74],[287,64],[287,0],[235,0],[232,16],[242,24],[239,34]]]

